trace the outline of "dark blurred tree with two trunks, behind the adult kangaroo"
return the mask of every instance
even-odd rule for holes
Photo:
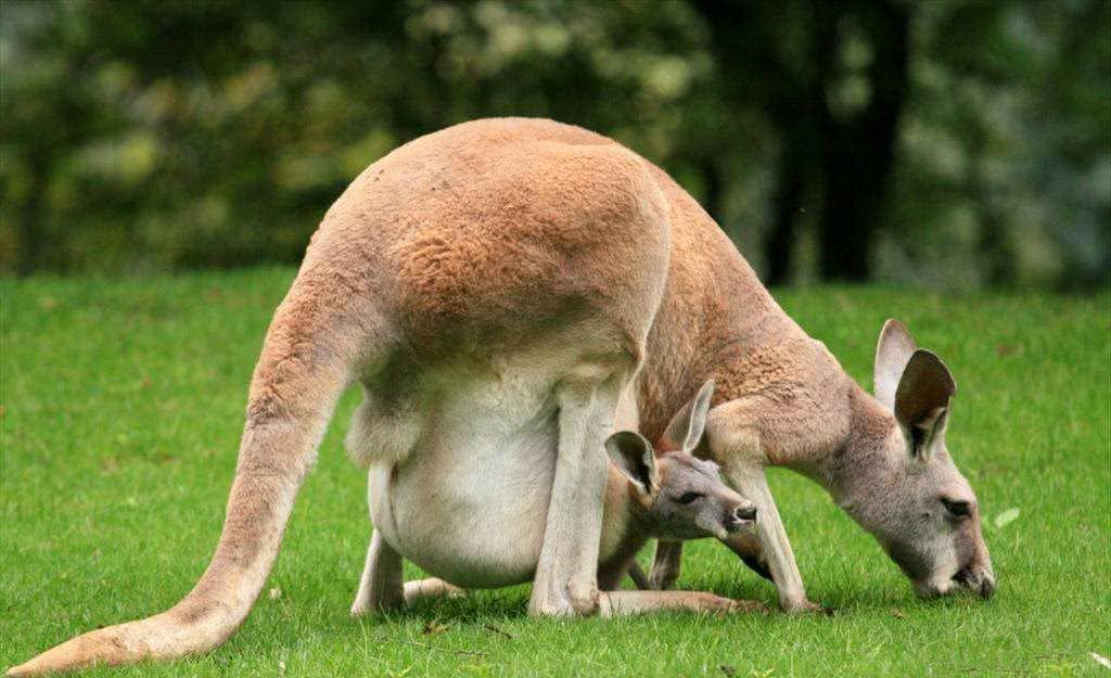
[[[804,206],[817,206],[821,275],[870,277],[907,91],[909,6],[895,0],[695,0],[734,107],[757,103],[780,137],[768,280],[789,279]]]

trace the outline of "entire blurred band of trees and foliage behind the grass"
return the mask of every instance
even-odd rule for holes
[[[662,164],[775,282],[1105,283],[1109,7],[4,0],[0,270],[296,262],[368,163],[514,114]]]

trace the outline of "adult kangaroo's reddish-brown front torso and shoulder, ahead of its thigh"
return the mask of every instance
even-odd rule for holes
[[[638,382],[640,430],[659,440],[671,415],[708,379],[712,405],[750,397],[774,408],[761,430],[768,463],[828,486],[820,461],[844,445],[857,388],[760,283],[718,225],[665,176],[671,202],[668,281]]]

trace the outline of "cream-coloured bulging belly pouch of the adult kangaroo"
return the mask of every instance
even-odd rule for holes
[[[364,387],[348,446],[369,463],[371,519],[394,550],[460,587],[532,579],[556,471],[556,388],[607,369],[580,353],[549,345],[416,376],[429,386],[413,389],[400,412],[381,407],[378,392],[410,385]],[[617,423],[635,428],[631,395]]]

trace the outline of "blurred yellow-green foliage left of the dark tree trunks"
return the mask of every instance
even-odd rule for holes
[[[0,265],[297,261],[328,202],[419,134],[549,116],[672,154],[710,69],[681,3],[12,2]],[[687,50],[683,52],[682,50]]]

